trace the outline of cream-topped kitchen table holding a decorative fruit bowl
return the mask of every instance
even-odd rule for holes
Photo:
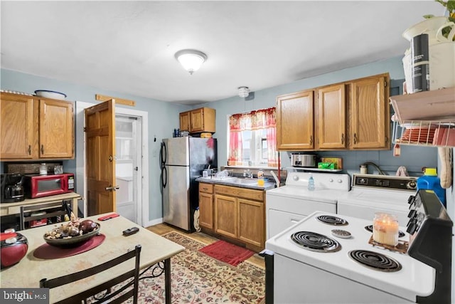
[[[120,256],[128,250],[132,250],[134,246],[140,244],[142,246],[141,269],[154,266],[159,262],[164,262],[161,264],[164,264],[164,268],[162,269],[164,270],[165,276],[166,303],[171,303],[171,256],[176,255],[185,248],[134,224],[122,216],[107,221],[98,221],[97,219],[102,215],[105,214],[89,216],[88,219],[100,223],[100,233],[105,234],[105,241],[90,251],[69,256],[68,258],[45,260],[33,256],[33,251],[45,243],[43,240],[45,232],[57,225],[41,226],[18,231],[23,236],[26,236],[28,240],[28,251],[19,263],[1,270],[0,287],[39,288],[39,282],[42,278],[56,278],[96,266]],[[138,227],[139,232],[131,236],[123,236],[122,231],[132,227]],[[128,271],[134,267],[134,259],[123,264],[122,267],[115,267],[119,268],[116,271],[97,274],[93,280],[83,280],[50,289],[50,303],[68,298],[71,295],[80,293],[94,285],[107,281],[109,278]]]

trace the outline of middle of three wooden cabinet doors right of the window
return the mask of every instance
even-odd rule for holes
[[[345,84],[319,88],[316,130],[319,149],[346,148]]]

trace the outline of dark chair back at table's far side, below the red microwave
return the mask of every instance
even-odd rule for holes
[[[66,204],[66,207],[65,207]],[[44,204],[33,204],[28,206],[21,206],[20,222],[21,230],[28,229],[26,226],[27,222],[38,221],[41,219],[48,219],[54,216],[65,216],[68,214],[68,208],[71,206],[70,200],[63,201],[53,201]],[[34,211],[46,211],[46,214],[39,216],[31,216],[31,213]]]

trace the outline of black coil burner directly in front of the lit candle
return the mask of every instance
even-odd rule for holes
[[[402,268],[401,264],[393,258],[374,251],[353,250],[349,251],[349,256],[354,261],[376,271],[395,272]]]

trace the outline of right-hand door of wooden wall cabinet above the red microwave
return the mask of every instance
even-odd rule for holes
[[[74,157],[73,103],[61,100],[40,100],[41,158]]]

